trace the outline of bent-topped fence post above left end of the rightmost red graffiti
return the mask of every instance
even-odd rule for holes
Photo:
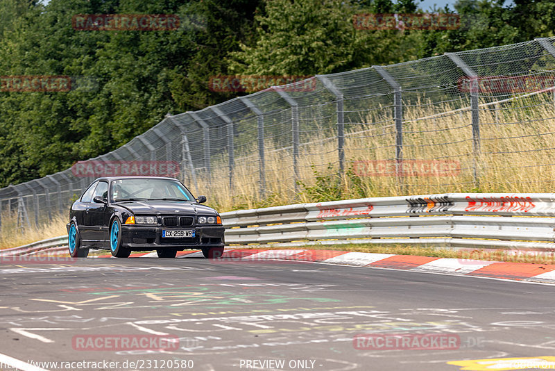
[[[474,183],[476,187],[479,187],[480,178],[479,178],[479,158],[480,158],[480,114],[479,114],[479,86],[478,86],[478,74],[474,71],[474,69],[468,67],[468,65],[461,59],[461,57],[457,56],[455,53],[445,53],[450,60],[462,69],[464,74],[470,78],[470,110],[472,114],[472,149],[474,152],[474,164],[472,165],[472,177],[474,179]]]

